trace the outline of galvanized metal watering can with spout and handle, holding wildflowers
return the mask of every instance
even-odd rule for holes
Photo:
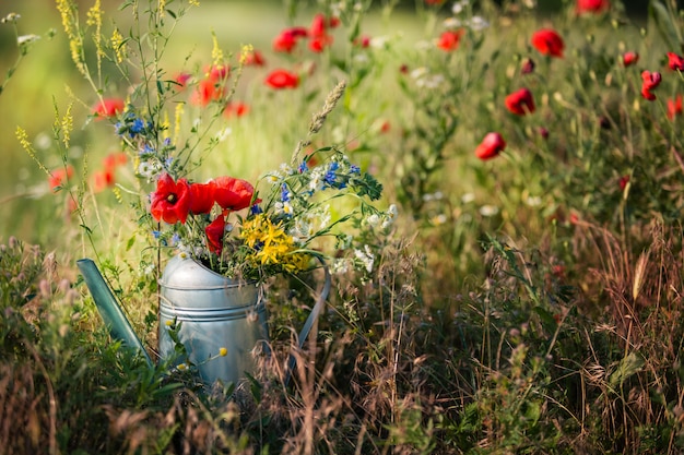
[[[95,263],[82,259],[76,265],[111,337],[138,350],[153,368],[154,362]],[[331,278],[325,264],[323,272],[325,285],[299,333],[299,348],[330,294]],[[216,380],[238,385],[255,372],[253,351],[261,349],[268,354],[266,302],[256,284],[229,279],[192,259],[175,256],[160,279],[160,356],[170,358],[176,355],[176,343],[169,331],[180,324],[176,331],[178,340],[205,385],[211,386]],[[290,356],[285,383],[294,367],[295,358]]]

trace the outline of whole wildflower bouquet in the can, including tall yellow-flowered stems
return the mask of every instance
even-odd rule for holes
[[[179,20],[197,2],[174,2],[178,7],[173,14],[170,1],[151,1],[144,9],[141,3],[126,2],[122,10],[134,10],[133,17],[144,11],[148,36],[154,39],[121,33],[117,26],[108,36],[99,2],[87,11],[85,28],[92,28],[97,46],[92,70],[84,56],[86,34],[79,25],[78,8],[70,0],[57,0],[76,69],[98,95],[92,119],[114,125],[133,163],[138,188],[130,193],[142,195],[138,219],[154,246],[246,279],[297,273],[311,267],[314,259],[332,256],[341,270],[357,265],[369,272],[373,254],[365,246],[354,246],[350,228],[387,227],[396,211],[380,212],[370,204],[381,196],[382,187],[351,163],[341,147],[308,148],[310,137],[342,97],[344,82],[314,116],[291,164],[276,166],[253,183],[225,175],[197,181],[191,176],[221,143],[221,118],[226,112],[239,115],[232,96],[244,67],[258,64],[258,52],[245,47],[239,62],[232,65],[214,36],[211,64],[167,76],[157,58],[173,29],[167,22]],[[130,94],[127,99],[103,95],[110,88],[97,81],[106,80],[102,71],[107,61],[121,72]],[[186,112],[188,106],[199,108],[192,118]],[[198,154],[202,156],[197,158]]]

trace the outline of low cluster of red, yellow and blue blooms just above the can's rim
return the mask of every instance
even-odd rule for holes
[[[163,172],[151,195],[152,218],[165,227],[155,236],[217,273],[261,279],[309,268],[312,259],[327,256],[315,249],[326,246],[326,237],[334,239],[335,251],[351,249],[353,237],[338,225],[361,227],[369,219],[369,225],[382,220],[387,227],[396,215],[366,201],[379,199],[381,185],[333,147],[306,155],[297,167],[283,164],[261,182],[267,185],[263,199],[239,178],[200,183]],[[333,203],[341,196],[359,204],[333,219]],[[368,268],[364,259],[356,253],[347,261]]]

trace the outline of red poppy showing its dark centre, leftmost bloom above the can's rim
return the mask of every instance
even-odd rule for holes
[[[185,223],[190,212],[190,185],[186,179],[177,182],[164,173],[156,182],[156,191],[152,193],[150,213],[157,221],[168,224]]]

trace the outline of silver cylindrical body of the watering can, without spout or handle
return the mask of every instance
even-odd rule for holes
[[[162,358],[174,358],[177,364],[189,361],[207,385],[217,380],[237,385],[255,373],[269,342],[260,286],[227,278],[177,255],[164,268],[160,296]],[[178,356],[177,342],[185,347],[185,356]]]

